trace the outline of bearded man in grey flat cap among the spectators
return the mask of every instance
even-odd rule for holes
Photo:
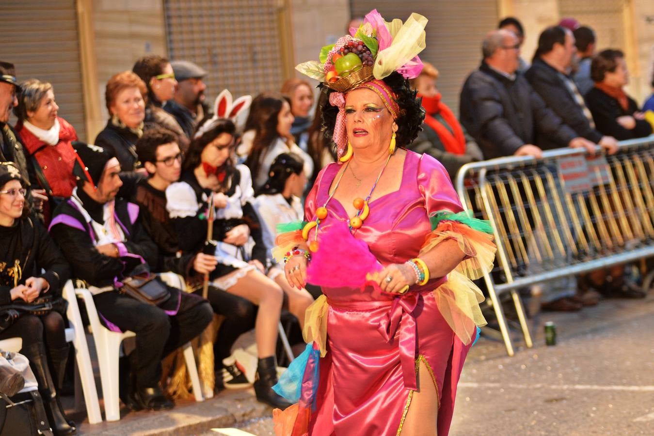
[[[207,85],[202,79],[207,71],[190,61],[173,61],[171,67],[177,79],[177,90],[163,109],[175,117],[188,141],[191,141],[198,123],[209,115],[203,104]]]

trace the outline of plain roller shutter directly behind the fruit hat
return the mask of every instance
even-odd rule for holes
[[[404,21],[417,12],[428,18],[426,48],[419,55],[438,69],[438,90],[443,101],[458,113],[458,96],[464,80],[481,62],[481,41],[497,25],[497,1],[390,1],[353,0],[352,16],[377,8],[387,20]]]

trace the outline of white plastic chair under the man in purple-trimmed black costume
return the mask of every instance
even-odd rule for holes
[[[75,293],[84,300],[86,313],[88,314],[88,320],[93,333],[97,361],[100,367],[103,398],[105,399],[105,417],[107,421],[118,421],[120,420],[118,401],[118,357],[120,356],[120,344],[124,339],[133,337],[136,334],[132,331],[118,333],[107,329],[107,327],[100,323],[97,310],[95,309],[93,295],[89,290],[77,288],[75,289]],[[198,367],[196,367],[193,348],[190,343],[186,343],[183,348],[186,369],[193,385],[193,394],[199,403],[200,401],[204,401],[204,398],[200,387]]]

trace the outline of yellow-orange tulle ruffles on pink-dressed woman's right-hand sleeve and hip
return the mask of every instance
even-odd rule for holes
[[[496,247],[492,235],[456,221],[443,221],[426,238],[421,254],[447,239],[458,243],[466,259],[447,275],[447,282],[434,290],[434,299],[456,336],[464,344],[469,344],[477,334],[477,327],[486,325],[479,308],[484,296],[472,280],[490,273]]]

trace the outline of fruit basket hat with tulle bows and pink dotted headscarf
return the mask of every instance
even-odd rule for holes
[[[398,18],[389,23],[373,9],[358,29],[350,29],[351,35],[322,47],[319,61],[307,61],[296,67],[303,75],[320,80],[322,86],[336,91],[330,94],[330,104],[339,108],[332,137],[339,157],[345,153],[347,144],[345,95],[357,88],[369,88],[381,97],[393,118],[398,118],[396,96],[382,79],[394,71],[404,78],[420,74],[422,61],[418,54],[425,47],[426,24],[427,19],[416,13],[404,23]]]

